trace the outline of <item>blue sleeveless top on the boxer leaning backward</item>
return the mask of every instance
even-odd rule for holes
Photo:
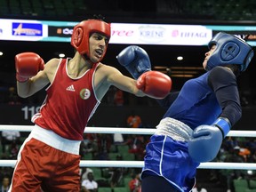
[[[209,72],[188,80],[180,90],[164,117],[172,117],[191,129],[201,124],[212,124],[220,116],[220,104],[207,83]],[[211,100],[211,102],[209,102]]]

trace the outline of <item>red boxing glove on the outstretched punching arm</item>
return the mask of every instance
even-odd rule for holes
[[[172,79],[158,71],[143,73],[137,80],[137,88],[155,99],[164,99],[171,92]]]

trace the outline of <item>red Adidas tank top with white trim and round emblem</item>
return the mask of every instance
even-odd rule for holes
[[[68,76],[68,60],[60,60],[44,103],[32,122],[68,140],[83,140],[85,126],[100,104],[93,88],[98,65],[83,76],[72,78]]]

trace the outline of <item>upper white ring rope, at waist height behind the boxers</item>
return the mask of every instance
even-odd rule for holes
[[[1,131],[19,131],[19,132],[31,132],[34,125],[13,125],[2,124],[0,125]],[[86,127],[85,133],[122,133],[122,134],[154,134],[156,129],[153,128],[123,128],[123,127]],[[236,131],[231,130],[228,132],[228,136],[231,137],[256,137],[255,131]]]

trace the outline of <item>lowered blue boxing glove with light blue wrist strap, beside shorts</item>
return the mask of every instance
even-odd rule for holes
[[[189,156],[196,162],[208,162],[214,159],[220,150],[222,140],[230,130],[231,124],[226,118],[218,118],[212,125],[200,125],[192,132],[188,140]]]

